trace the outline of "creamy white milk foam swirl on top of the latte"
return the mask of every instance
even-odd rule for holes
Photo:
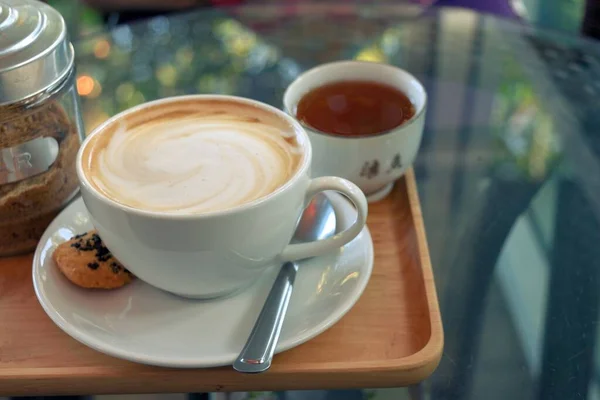
[[[301,149],[293,130],[217,112],[132,128],[117,123],[91,153],[91,181],[114,200],[149,211],[203,213],[272,193],[294,174]]]

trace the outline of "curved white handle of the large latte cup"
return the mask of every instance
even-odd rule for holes
[[[306,198],[310,200],[315,194],[324,190],[335,190],[348,197],[356,207],[356,221],[345,231],[328,239],[287,245],[279,256],[281,261],[301,260],[326,254],[350,242],[362,231],[367,222],[368,205],[365,195],[358,186],[343,178],[324,176],[310,182]]]

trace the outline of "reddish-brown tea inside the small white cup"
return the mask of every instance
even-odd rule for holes
[[[296,117],[321,132],[364,136],[388,131],[415,115],[415,107],[400,90],[378,82],[341,81],[308,92]]]

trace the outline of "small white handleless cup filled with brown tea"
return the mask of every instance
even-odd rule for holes
[[[301,74],[283,103],[308,132],[313,176],[343,177],[377,201],[415,160],[427,94],[400,68],[339,61]]]

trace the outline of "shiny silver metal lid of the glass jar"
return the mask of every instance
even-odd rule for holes
[[[0,0],[0,105],[52,89],[73,58],[58,11],[36,0]]]

